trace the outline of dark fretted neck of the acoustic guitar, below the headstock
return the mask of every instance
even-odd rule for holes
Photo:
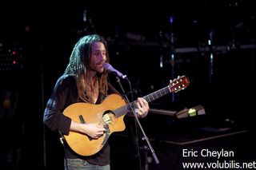
[[[154,92],[154,93],[150,93],[148,95],[146,95],[145,97],[143,97],[148,103],[150,103],[151,101],[155,101],[160,97],[165,96],[166,94],[170,93],[171,90],[169,88],[169,86],[166,86],[165,88],[159,89],[158,91]],[[134,104],[136,101],[131,102],[130,104],[126,104],[123,105],[122,107],[118,108],[118,109],[114,109],[114,113],[116,114],[116,117],[122,117],[123,115],[125,115],[126,113],[129,113],[130,110],[130,105],[132,108],[134,108]]]

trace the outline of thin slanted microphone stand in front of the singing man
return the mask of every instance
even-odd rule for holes
[[[130,106],[130,110],[131,110],[132,113],[134,114],[135,120],[137,121],[139,128],[140,128],[141,131],[142,131],[142,135],[143,135],[143,136],[142,136],[142,140],[145,140],[146,143],[148,144],[148,147],[147,147],[147,146],[143,146],[143,149],[145,149],[145,151],[146,151],[146,150],[150,150],[150,152],[151,152],[151,154],[152,154],[152,156],[153,156],[153,158],[154,158],[155,163],[156,163],[156,164],[159,164],[158,157],[156,156],[156,154],[155,154],[155,152],[154,152],[154,149],[152,148],[152,146],[151,146],[151,144],[150,144],[150,140],[149,140],[148,137],[146,136],[146,133],[144,132],[140,121],[138,121],[137,113],[135,113],[135,111],[134,111],[134,101],[133,101],[133,103],[130,103],[130,101],[129,101],[129,99],[128,99],[126,93],[125,93],[125,90],[124,90],[123,87],[122,87],[122,84],[121,84],[120,79],[119,79],[118,76],[116,76],[116,80],[117,80],[118,84],[120,85],[120,88],[122,89],[123,95],[126,97],[126,101],[128,102],[128,104],[129,104],[129,106]],[[127,77],[126,77],[126,80],[128,80]],[[129,81],[129,80],[128,80],[128,81]],[[147,156],[147,154],[146,154],[146,156]],[[145,161],[146,161],[146,160],[145,160]],[[147,168],[147,161],[146,161],[146,168]]]

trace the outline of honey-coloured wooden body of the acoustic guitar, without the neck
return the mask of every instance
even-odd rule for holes
[[[74,152],[82,156],[90,156],[98,152],[104,144],[106,144],[106,140],[112,132],[120,132],[126,128],[123,121],[125,115],[116,117],[112,112],[114,109],[125,104],[126,101],[121,96],[111,94],[99,105],[83,102],[69,105],[63,111],[63,114],[66,115],[66,117],[70,117],[72,121],[83,123],[81,121],[82,117],[85,123],[94,122],[98,125],[104,125],[104,127],[108,129],[107,132],[98,139],[91,139],[89,136],[86,136],[86,134],[70,131],[69,135],[64,135],[67,144]]]

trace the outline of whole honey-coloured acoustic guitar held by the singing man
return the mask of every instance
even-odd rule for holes
[[[177,77],[173,81],[170,81],[170,85],[154,93],[150,93],[143,98],[147,102],[154,101],[168,93],[177,93],[185,89],[188,85],[190,85],[188,77]],[[131,102],[131,105],[134,106],[134,103],[135,101]],[[81,156],[94,155],[106,144],[111,133],[121,132],[126,128],[123,118],[130,111],[130,105],[118,94],[110,94],[98,105],[84,102],[69,105],[64,109],[63,114],[70,117],[72,121],[82,124],[94,122],[98,125],[103,125],[106,128],[106,132],[98,139],[91,138],[80,132],[70,132],[69,135],[64,135],[66,143],[74,152]]]

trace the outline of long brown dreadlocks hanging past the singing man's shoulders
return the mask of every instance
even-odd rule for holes
[[[92,93],[91,87],[93,86],[93,81],[86,73],[86,69],[90,65],[90,56],[91,56],[91,46],[95,42],[102,42],[105,45],[106,49],[106,62],[110,61],[109,53],[107,51],[107,43],[102,36],[98,34],[86,35],[83,38],[80,38],[79,41],[74,45],[74,49],[70,55],[70,62],[66,66],[64,75],[73,74],[76,77],[76,83],[78,86],[78,95],[82,101],[90,102],[93,101],[90,99],[90,93]],[[104,71],[101,75],[98,76],[98,86],[99,93],[102,93],[102,97],[105,96],[108,90],[107,86],[107,76],[108,73]]]

